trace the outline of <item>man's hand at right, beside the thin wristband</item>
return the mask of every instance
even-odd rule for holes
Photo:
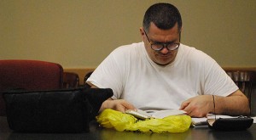
[[[192,117],[206,117],[208,113],[214,111],[212,95],[200,95],[189,98],[181,104],[180,109],[187,112]]]

